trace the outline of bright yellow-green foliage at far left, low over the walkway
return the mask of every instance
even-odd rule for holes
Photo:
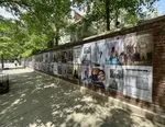
[[[0,32],[0,55],[4,57],[28,57],[35,50],[45,49],[48,41],[46,35],[30,34],[26,27],[13,21],[1,20]]]

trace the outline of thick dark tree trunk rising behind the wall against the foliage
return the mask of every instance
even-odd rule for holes
[[[110,0],[106,0],[106,23],[107,31],[110,31]]]

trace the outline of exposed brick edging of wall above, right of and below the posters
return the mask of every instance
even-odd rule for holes
[[[109,33],[105,35],[94,36],[77,43],[61,45],[53,49],[43,50],[42,53],[50,51],[50,50],[61,50],[61,49],[82,45],[86,43],[96,42],[99,39],[110,38],[118,35],[125,35],[134,32],[141,33],[144,31],[152,33],[153,43],[154,43],[153,44],[154,47],[153,48],[153,102],[147,103],[141,100],[135,100],[129,96],[124,96],[117,92],[110,92],[108,94],[113,97],[118,97],[122,101],[132,103],[134,105],[154,109],[155,112],[157,111],[156,108],[158,107],[161,108],[161,111],[163,109],[163,112],[165,113],[165,16],[146,21],[135,27],[125,28],[119,32]]]

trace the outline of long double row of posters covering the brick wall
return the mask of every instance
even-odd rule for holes
[[[35,56],[35,68],[152,102],[150,33],[128,34]]]

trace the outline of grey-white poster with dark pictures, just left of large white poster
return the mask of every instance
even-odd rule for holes
[[[106,66],[106,88],[123,92],[124,73],[122,66]]]

